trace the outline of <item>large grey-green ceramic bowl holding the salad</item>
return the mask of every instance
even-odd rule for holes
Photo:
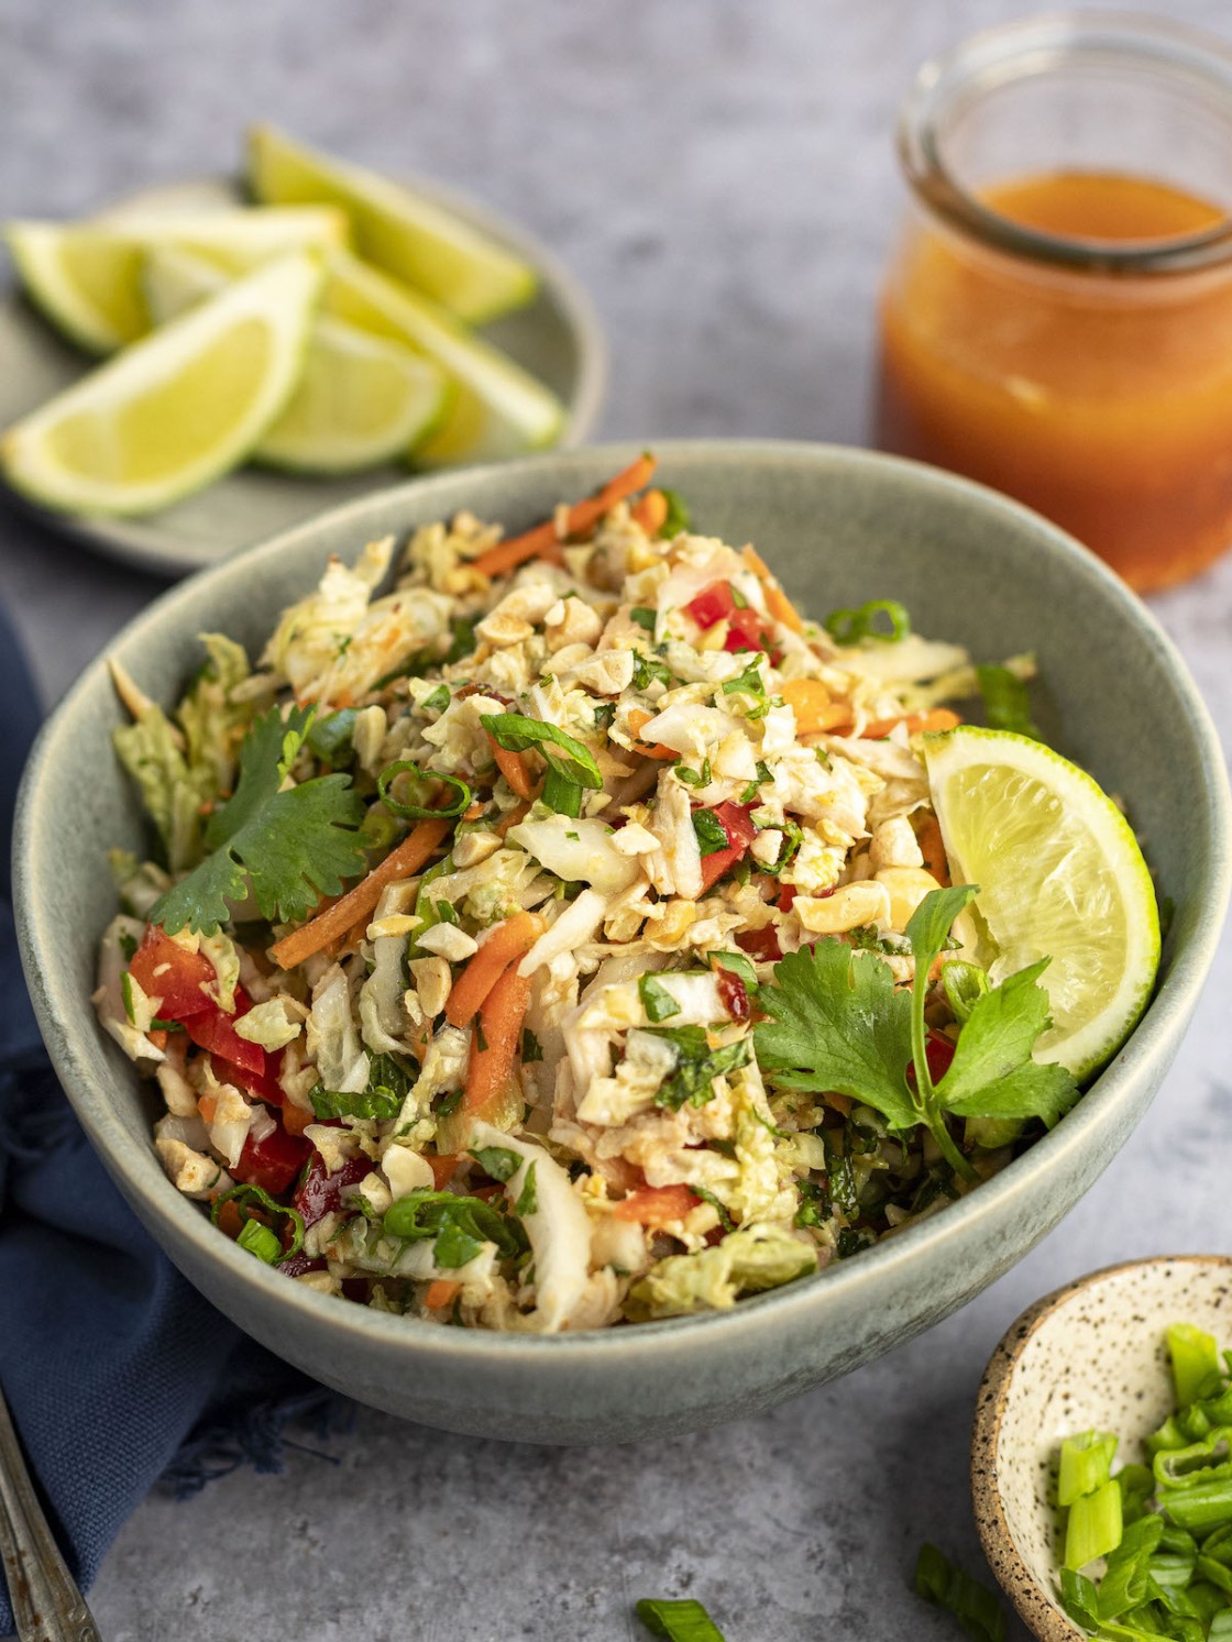
[[[627,447],[421,479],[352,502],[174,588],[110,647],[172,701],[195,635],[261,647],[330,553],[470,507],[511,530],[623,466]],[[97,938],[115,911],[103,851],[145,829],[110,749],[105,658],[48,722],[21,788],[15,875],[26,977],[56,1067],[99,1154],[181,1271],[241,1328],[340,1391],[447,1430],[629,1442],[769,1407],[908,1340],[1020,1259],[1086,1192],[1168,1069],[1211,965],[1229,893],[1219,745],[1176,652],[1104,566],[1035,514],[961,479],[815,445],[659,447],[695,527],[754,540],[821,614],[902,599],[917,627],[999,660],[1035,650],[1050,741],[1125,796],[1175,906],[1153,1003],[1083,1102],[971,1197],[818,1277],[733,1312],[536,1338],[381,1315],[278,1273],[210,1228],[163,1177],[153,1090],[99,1031]]]

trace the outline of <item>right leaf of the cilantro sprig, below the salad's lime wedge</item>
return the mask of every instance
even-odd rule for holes
[[[1009,975],[971,1005],[954,1059],[936,1085],[946,1112],[969,1118],[1043,1118],[1051,1128],[1078,1100],[1063,1066],[1038,1066],[1032,1049],[1051,1025],[1038,984],[1051,959]]]

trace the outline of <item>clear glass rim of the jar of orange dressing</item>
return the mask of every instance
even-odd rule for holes
[[[1117,243],[1028,228],[986,205],[943,153],[943,123],[987,92],[1086,61],[1150,67],[1225,103],[1232,48],[1214,34],[1142,11],[1045,11],[969,34],[925,62],[899,115],[899,161],[912,192],[943,223],[984,246],[1079,274],[1184,274],[1232,261],[1232,212],[1199,233]]]

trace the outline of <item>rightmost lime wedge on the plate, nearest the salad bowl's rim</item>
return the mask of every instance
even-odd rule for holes
[[[501,461],[560,438],[563,406],[508,355],[347,251],[333,251],[329,269],[322,312],[414,348],[455,388],[439,430],[414,448],[416,465]]]

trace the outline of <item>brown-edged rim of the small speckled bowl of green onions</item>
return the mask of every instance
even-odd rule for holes
[[[1014,1319],[994,1346],[976,1392],[971,1427],[971,1504],[979,1543],[997,1583],[1014,1603],[1023,1624],[1030,1626],[1032,1634],[1041,1642],[1089,1642],[1089,1639],[1027,1566],[1000,1502],[1000,1427],[1009,1409],[1014,1374],[1035,1335],[1060,1310],[1102,1282],[1152,1266],[1217,1266],[1232,1274],[1232,1254],[1152,1254],[1145,1259],[1122,1259],[1061,1284]]]

